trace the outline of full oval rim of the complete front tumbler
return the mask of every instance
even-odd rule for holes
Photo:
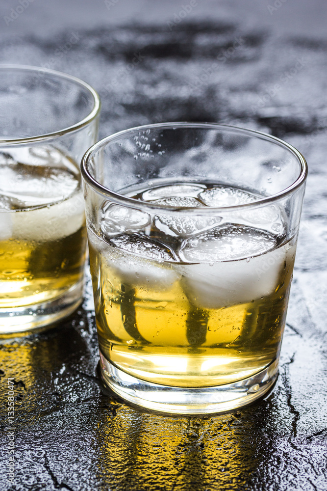
[[[255,201],[249,202],[249,203],[243,203],[240,205],[232,205],[232,206],[208,206],[208,207],[175,207],[175,206],[167,206],[167,205],[162,205],[158,203],[151,203],[150,201],[140,201],[135,198],[131,198],[129,196],[126,196],[124,194],[120,194],[119,192],[116,191],[111,191],[105,186],[102,186],[92,175],[90,174],[87,164],[90,158],[92,157],[92,154],[96,152],[98,149],[101,147],[104,147],[107,143],[110,143],[116,139],[119,139],[121,136],[125,136],[127,134],[133,135],[139,131],[146,131],[151,128],[160,128],[160,129],[176,129],[177,127],[179,128],[203,128],[203,129],[212,129],[212,130],[218,130],[218,129],[226,129],[226,130],[233,130],[239,133],[244,133],[252,137],[258,137],[262,138],[265,140],[271,140],[272,143],[278,144],[279,146],[283,146],[287,148],[293,155],[295,155],[300,163],[301,170],[299,173],[298,178],[287,188],[285,188],[282,191],[279,191],[275,194],[272,194],[270,196],[264,197],[257,199]],[[281,198],[295,192],[298,188],[300,188],[306,180],[307,174],[308,174],[308,167],[307,163],[302,156],[302,154],[297,150],[295,147],[290,145],[284,140],[281,140],[280,138],[277,138],[276,136],[268,135],[267,133],[263,133],[257,130],[251,130],[247,128],[241,128],[239,126],[233,126],[233,125],[228,125],[224,123],[195,123],[195,122],[187,122],[187,121],[177,121],[177,122],[168,122],[168,123],[153,123],[153,124],[147,124],[147,125],[142,125],[142,126],[135,126],[133,128],[129,128],[126,130],[119,131],[117,133],[114,133],[112,135],[106,136],[99,140],[98,142],[94,143],[83,155],[81,164],[80,164],[80,169],[81,169],[81,174],[83,180],[91,187],[93,188],[94,191],[97,193],[104,195],[108,197],[111,201],[118,203],[118,204],[123,204],[127,205],[129,207],[133,208],[138,208],[138,209],[151,209],[153,212],[154,210],[160,210],[161,212],[165,210],[166,212],[178,212],[178,213],[193,213],[197,215],[202,215],[202,214],[210,214],[213,213],[214,211],[236,211],[239,209],[244,209],[244,208],[256,208],[265,204],[269,204],[272,202],[275,202],[277,200],[280,200]],[[150,179],[151,180],[151,179]],[[193,181],[192,178],[189,179],[187,182],[194,182],[196,184],[196,181]]]

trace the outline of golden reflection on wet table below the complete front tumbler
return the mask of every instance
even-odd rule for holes
[[[252,425],[241,412],[178,419],[113,404],[96,432],[98,479],[117,490],[237,490],[256,467]]]

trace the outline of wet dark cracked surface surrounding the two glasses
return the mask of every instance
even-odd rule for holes
[[[90,82],[102,99],[101,137],[149,122],[220,121],[302,151],[310,173],[280,375],[265,400],[231,414],[170,418],[128,407],[99,379],[88,279],[83,305],[61,326],[0,344],[2,430],[8,377],[16,410],[15,483],[2,432],[0,490],[326,491],[327,5],[288,0],[270,14],[273,1],[203,1],[170,30],[179,4],[138,1],[139,14],[126,0],[109,11],[101,1],[56,0],[62,22],[51,2],[35,2],[7,29],[3,17],[17,5],[4,1],[0,61],[50,63]],[[75,30],[78,43],[55,55]],[[135,54],[141,61],[128,71]]]

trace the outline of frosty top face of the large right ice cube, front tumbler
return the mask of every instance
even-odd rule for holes
[[[179,256],[189,263],[230,261],[263,254],[275,245],[268,232],[224,224],[185,241]]]

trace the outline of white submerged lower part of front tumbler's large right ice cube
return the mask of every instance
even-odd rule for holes
[[[272,294],[282,268],[292,268],[295,246],[284,245],[250,260],[182,265],[181,284],[190,303],[224,308]]]

